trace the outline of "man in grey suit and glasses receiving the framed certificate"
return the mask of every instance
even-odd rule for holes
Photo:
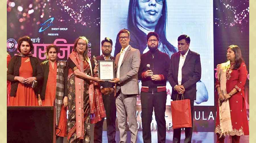
[[[117,83],[115,104],[120,131],[119,143],[126,142],[127,139],[127,118],[129,130],[131,131],[131,143],[135,143],[138,133],[136,102],[137,94],[139,94],[138,71],[141,55],[138,49],[134,49],[129,45],[130,32],[127,29],[119,31],[118,38],[122,49],[115,58],[117,66],[116,78],[110,82]]]

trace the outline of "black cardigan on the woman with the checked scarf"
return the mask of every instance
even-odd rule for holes
[[[58,61],[56,61],[58,62]],[[44,80],[42,80],[41,82],[38,83],[38,87],[39,87],[39,93],[40,93],[40,98],[42,100],[45,99],[45,92],[46,92],[46,85],[47,85],[47,81],[48,81],[48,75],[49,75],[49,60],[44,61],[41,63],[42,66],[42,71],[43,71],[43,75],[44,75]],[[64,96],[67,96],[67,76],[68,76],[68,69],[67,69],[67,65],[64,68]]]

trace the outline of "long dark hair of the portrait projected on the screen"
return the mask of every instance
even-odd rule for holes
[[[135,15],[135,8],[138,4],[138,0],[130,0],[129,2],[129,9],[128,9],[128,17],[127,17],[127,27],[131,31],[135,31],[135,33],[143,33],[136,23],[136,15]],[[162,8],[162,15],[158,20],[158,23],[155,27],[155,32],[159,35],[159,38],[163,45],[166,45],[169,51],[176,53],[176,48],[170,44],[166,39],[166,21],[167,21],[167,4],[166,1],[163,1],[163,8]],[[147,33],[146,33],[147,34]],[[146,39],[145,39],[146,40]]]

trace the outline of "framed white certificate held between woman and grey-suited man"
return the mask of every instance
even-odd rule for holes
[[[98,60],[99,78],[103,81],[111,81],[115,78],[115,61],[114,60]]]

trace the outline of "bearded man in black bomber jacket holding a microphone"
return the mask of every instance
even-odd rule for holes
[[[154,109],[157,123],[158,142],[166,140],[166,81],[170,58],[158,50],[159,36],[155,32],[147,35],[149,51],[141,55],[141,65],[138,72],[141,87],[142,135],[144,143],[151,143],[150,123]],[[147,65],[150,65],[148,68]]]

